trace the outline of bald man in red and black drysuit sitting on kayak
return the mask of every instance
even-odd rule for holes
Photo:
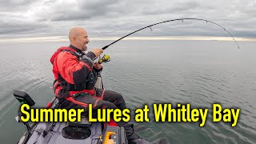
[[[87,54],[86,44],[89,38],[82,27],[74,27],[69,33],[70,46],[60,47],[50,58],[54,73],[54,94],[58,97],[61,108],[93,109],[126,109],[126,102],[121,94],[110,90],[95,89],[94,85],[102,65],[94,63],[93,59],[102,54],[102,49],[93,49]],[[147,143],[134,133],[133,124],[115,122],[123,126],[129,143]]]

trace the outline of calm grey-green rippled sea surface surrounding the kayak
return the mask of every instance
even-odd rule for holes
[[[90,42],[100,47],[110,41]],[[154,141],[170,143],[256,143],[256,42],[121,41],[110,46],[110,62],[102,78],[107,90],[121,93],[134,119],[134,109],[150,106],[150,122],[138,132]],[[15,121],[24,90],[37,106],[53,97],[50,56],[68,42],[0,44],[0,143],[15,143],[25,126]],[[154,122],[153,103],[190,103],[209,108],[206,125],[199,122]],[[240,108],[238,125],[212,122],[212,104]]]

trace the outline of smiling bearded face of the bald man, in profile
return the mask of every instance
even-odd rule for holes
[[[88,44],[90,41],[88,38],[88,34],[86,33],[86,30],[82,30],[82,32],[78,35],[78,37],[76,37],[76,42],[80,50],[82,51],[87,50],[86,44]]]

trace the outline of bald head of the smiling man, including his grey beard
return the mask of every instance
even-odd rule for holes
[[[80,50],[87,50],[86,44],[89,41],[87,32],[82,27],[73,27],[69,33],[70,44],[77,47]]]

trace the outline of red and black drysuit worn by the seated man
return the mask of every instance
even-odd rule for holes
[[[70,45],[59,48],[50,58],[53,64],[54,94],[61,108],[126,109],[126,102],[121,94],[110,90],[95,89],[99,70],[94,70],[95,54]]]

